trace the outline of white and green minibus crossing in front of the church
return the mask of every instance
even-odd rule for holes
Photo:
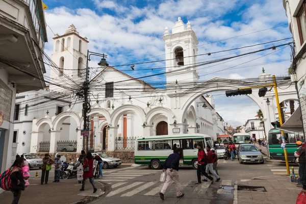
[[[192,165],[197,169],[197,144],[205,148],[213,147],[211,136],[202,134],[163,135],[139,138],[135,144],[135,164],[149,165],[160,169],[167,157],[173,153],[173,147],[181,148],[180,165]]]

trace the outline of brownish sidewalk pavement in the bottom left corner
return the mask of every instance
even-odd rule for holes
[[[53,176],[50,176],[48,184],[43,185],[40,185],[40,179],[30,179],[30,186],[21,193],[19,204],[73,203],[80,200],[87,203],[95,199],[96,196],[102,195],[104,191],[104,185],[97,181],[95,181],[95,186],[98,189],[96,193],[92,193],[89,180],[86,181],[85,191],[80,191],[81,184],[77,184],[77,179],[60,180],[59,183],[52,183],[52,181]],[[0,194],[1,203],[11,203],[12,199],[11,191]]]

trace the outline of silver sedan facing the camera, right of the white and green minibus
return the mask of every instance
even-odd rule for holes
[[[265,162],[264,156],[260,150],[253,144],[240,144],[238,147],[238,160],[243,163],[260,163]]]

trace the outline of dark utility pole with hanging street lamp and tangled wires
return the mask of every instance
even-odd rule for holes
[[[83,101],[83,118],[84,118],[84,126],[83,126],[83,130],[87,130],[89,131],[89,116],[87,115],[88,113],[90,113],[91,111],[91,105],[88,102],[89,100],[89,67],[88,67],[88,62],[90,61],[90,56],[94,55],[94,56],[99,56],[102,57],[102,59],[100,60],[100,62],[98,63],[99,66],[101,67],[106,67],[109,66],[109,64],[107,63],[106,59],[107,55],[105,54],[99,54],[99,53],[93,53],[93,52],[89,52],[89,50],[87,50],[87,60],[86,60],[86,76],[85,76],[85,81],[83,83],[83,94],[84,94],[84,101]],[[90,134],[89,134],[90,135]],[[83,150],[85,152],[88,151],[88,137],[89,135],[84,135],[83,136]]]

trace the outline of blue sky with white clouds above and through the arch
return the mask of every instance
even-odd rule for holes
[[[45,10],[48,26],[54,33],[62,35],[70,24],[77,27],[81,36],[86,36],[92,52],[105,53],[110,65],[163,60],[164,41],[162,36],[167,26],[171,28],[177,17],[191,22],[198,41],[198,54],[216,52],[241,46],[292,37],[288,29],[288,19],[280,0],[179,0],[179,1],[109,1],[109,0],[44,0],[49,9]],[[45,52],[51,56],[53,49],[52,32],[47,27],[48,43]],[[235,56],[267,46],[289,42],[281,41],[221,53],[198,57],[198,61]],[[149,59],[148,59],[149,58]],[[90,66],[96,67],[99,59],[92,60]],[[238,65],[238,66],[237,66]],[[255,78],[266,73],[283,75],[290,65],[289,47],[268,50],[248,55],[214,66],[198,67],[200,80],[213,77],[231,79]],[[133,77],[142,77],[151,73],[164,72],[165,69],[139,71],[146,67],[164,67],[164,62],[137,65],[135,71],[129,66],[120,70]],[[215,72],[224,68],[226,71]],[[138,71],[137,71],[138,69]],[[165,82],[164,75],[145,78],[148,83]],[[215,94],[217,112],[228,124],[243,124],[247,118],[256,115],[258,106],[246,96],[227,98]],[[237,115],[237,112],[241,114]]]

